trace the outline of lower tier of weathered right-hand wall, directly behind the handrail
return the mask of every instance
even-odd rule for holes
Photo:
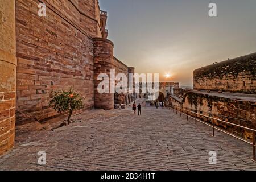
[[[256,129],[256,103],[254,102],[238,101],[224,97],[210,96],[209,94],[187,92],[183,98],[170,96],[169,104],[178,110],[183,108],[194,112],[198,111],[197,113],[199,114],[212,116],[217,119]],[[195,114],[189,113],[189,115],[195,117]],[[250,131],[240,129],[233,125],[227,125],[216,120],[210,121],[210,119],[198,114],[197,118],[203,119],[203,121],[209,123],[214,122],[215,125],[222,127],[222,129],[246,139],[252,138]]]

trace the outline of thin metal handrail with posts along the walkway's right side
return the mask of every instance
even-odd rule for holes
[[[172,107],[172,106],[170,106],[170,105],[169,105],[169,107],[171,107],[172,109],[175,109],[175,110],[176,110],[176,114],[177,114],[177,111],[179,111],[179,112],[180,112],[180,116],[181,116],[181,114],[187,115],[187,120],[188,120],[188,118],[195,119],[196,125],[197,125],[197,121],[198,121],[198,122],[200,122],[200,123],[203,123],[204,125],[207,125],[207,126],[212,127],[212,129],[213,129],[213,137],[215,137],[214,129],[216,129],[216,130],[221,131],[221,132],[223,132],[223,133],[225,133],[225,134],[228,134],[228,135],[230,135],[230,136],[232,136],[232,137],[234,137],[234,138],[240,139],[240,140],[242,140],[243,142],[246,142],[246,143],[248,143],[248,144],[251,144],[251,145],[253,146],[253,159],[252,159],[252,160],[253,160],[254,162],[256,162],[256,141],[255,141],[255,133],[256,133],[256,130],[255,130],[255,129],[251,129],[251,128],[249,128],[249,127],[245,127],[245,126],[237,125],[237,124],[230,123],[230,122],[227,122],[227,121],[223,121],[223,120],[221,120],[221,119],[209,117],[208,115],[195,113],[195,112],[190,111],[190,110],[187,110],[187,109],[180,108],[180,110],[177,110],[175,107]],[[183,112],[181,112],[181,110],[187,111],[187,114],[184,114]],[[222,129],[216,127],[216,126],[214,125],[214,123],[213,123],[212,125],[210,125],[209,123],[204,122],[204,121],[201,121],[200,119],[197,119],[196,117],[194,118],[194,117],[188,115],[188,112],[194,113],[194,114],[199,114],[199,115],[201,115],[201,116],[204,116],[204,117],[207,117],[207,118],[210,118],[210,119],[216,119],[217,121],[221,121],[221,122],[224,122],[224,123],[228,123],[229,125],[233,125],[233,126],[241,127],[242,129],[246,129],[246,130],[253,131],[253,139],[252,139],[252,142],[249,142],[248,140],[243,139],[243,138],[241,138],[241,137],[237,137],[236,135],[233,135],[233,134],[229,133],[228,131],[222,130]]]

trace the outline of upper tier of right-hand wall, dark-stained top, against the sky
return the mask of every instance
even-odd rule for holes
[[[256,93],[256,53],[193,72],[194,89]]]

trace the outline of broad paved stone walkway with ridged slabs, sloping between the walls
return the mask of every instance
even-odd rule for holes
[[[131,109],[108,113],[31,134],[0,157],[0,169],[256,170],[249,144],[218,131],[212,137],[209,127],[168,109],[143,107],[140,117]],[[46,151],[46,166],[38,164],[40,150]],[[208,163],[209,151],[217,152],[217,165]]]

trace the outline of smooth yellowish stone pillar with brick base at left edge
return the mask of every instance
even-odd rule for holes
[[[0,155],[14,146],[15,45],[15,0],[0,1]]]

